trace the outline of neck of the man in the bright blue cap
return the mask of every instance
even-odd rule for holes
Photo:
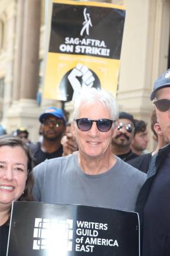
[[[61,139],[47,140],[43,137],[41,142],[41,150],[46,153],[53,153],[57,151],[61,146]]]

